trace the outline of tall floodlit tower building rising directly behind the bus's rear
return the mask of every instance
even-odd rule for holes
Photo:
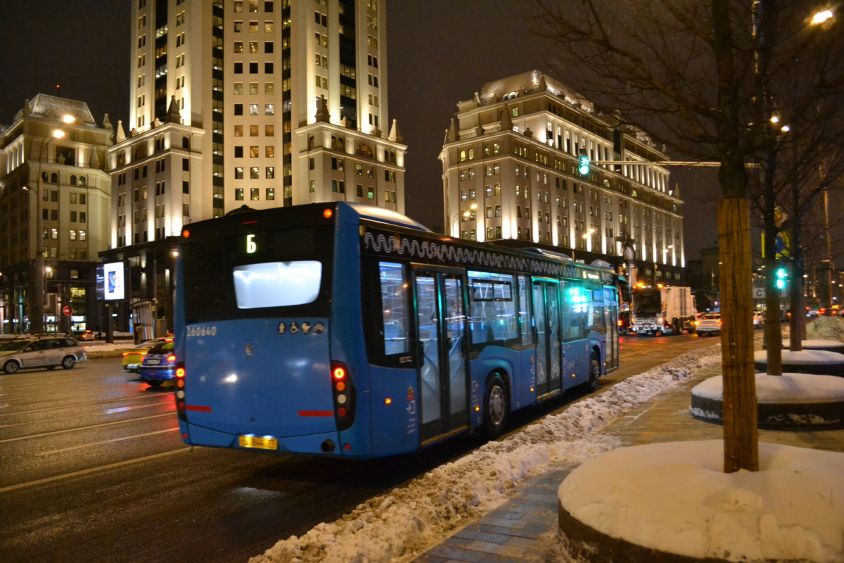
[[[109,152],[111,246],[177,235],[244,204],[403,212],[384,4],[133,2],[129,133],[119,127]]]

